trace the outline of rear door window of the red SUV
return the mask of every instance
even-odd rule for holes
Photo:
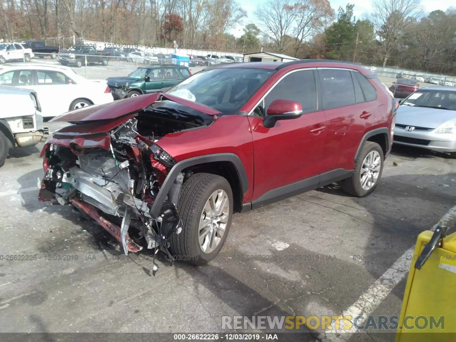
[[[323,109],[332,109],[356,103],[355,88],[349,70],[319,69]]]

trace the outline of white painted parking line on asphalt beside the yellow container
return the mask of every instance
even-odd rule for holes
[[[434,231],[438,225],[444,226],[452,218],[456,217],[456,206],[452,207],[434,227],[430,230]],[[363,316],[367,320],[368,316],[377,308],[377,306],[389,295],[389,293],[394,289],[394,286],[398,285],[399,282],[404,279],[410,269],[411,260],[408,260],[407,257],[413,255],[415,251],[415,246],[407,249],[404,254],[402,254],[399,259],[394,262],[394,264],[386,270],[383,275],[378,278],[378,280],[373,283],[373,285],[363,293],[358,298],[358,301],[354,302],[346,311],[343,312],[342,316],[352,316],[355,318],[357,316]],[[364,320],[364,321],[365,321]],[[345,326],[344,323],[340,322],[340,326]],[[334,324],[334,322],[332,323]],[[363,321],[360,319],[357,321],[358,326],[363,325]],[[326,332],[321,333],[319,338],[321,342],[344,342],[348,341],[353,333],[355,332],[365,332],[359,331],[354,326],[351,329],[332,329],[326,330]]]

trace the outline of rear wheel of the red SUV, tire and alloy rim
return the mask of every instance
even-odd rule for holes
[[[356,197],[368,196],[375,190],[383,172],[383,150],[377,143],[366,141],[350,178],[339,182],[342,189]]]

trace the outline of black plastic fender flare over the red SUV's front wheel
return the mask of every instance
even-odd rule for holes
[[[247,190],[249,189],[249,180],[247,178],[247,173],[245,172],[244,165],[242,164],[242,161],[239,159],[237,155],[235,155],[234,153],[216,153],[212,155],[200,155],[198,157],[193,157],[189,159],[184,159],[183,161],[179,161],[178,163],[176,163],[176,165],[174,165],[171,168],[171,171],[168,172],[168,175],[166,176],[166,179],[163,182],[157,196],[155,197],[152,207],[150,208],[150,216],[152,216],[153,218],[158,217],[161,207],[165,202],[166,196],[168,195],[168,192],[170,191],[176,177],[179,175],[179,173],[181,173],[183,169],[198,164],[211,163],[217,161],[229,161],[233,163],[238,173],[242,194],[245,194],[245,192],[247,192]]]

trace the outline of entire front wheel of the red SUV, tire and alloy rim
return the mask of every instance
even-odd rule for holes
[[[214,259],[228,236],[233,217],[233,192],[222,176],[197,173],[182,185],[179,198],[182,231],[171,237],[177,260],[201,265]]]

